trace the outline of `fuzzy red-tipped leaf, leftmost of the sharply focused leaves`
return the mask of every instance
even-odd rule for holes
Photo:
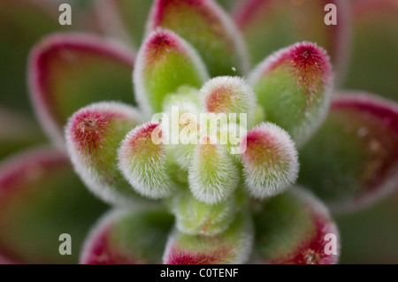
[[[91,192],[115,205],[138,204],[142,197],[123,178],[118,149],[141,114],[122,103],[94,103],[73,114],[65,127],[74,169]]]

